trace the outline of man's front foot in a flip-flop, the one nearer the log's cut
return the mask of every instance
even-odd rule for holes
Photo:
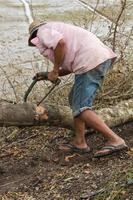
[[[69,151],[69,152],[74,152],[74,153],[79,153],[79,154],[85,154],[85,153],[90,153],[90,147],[85,147],[85,148],[79,148],[75,146],[72,143],[64,143],[59,147],[60,150],[63,151]]]

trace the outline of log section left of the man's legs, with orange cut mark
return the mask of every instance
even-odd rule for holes
[[[72,129],[73,123],[70,108],[47,104],[38,107],[29,103],[0,104],[0,127],[47,124]]]

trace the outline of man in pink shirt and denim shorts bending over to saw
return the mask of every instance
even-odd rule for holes
[[[54,64],[53,70],[48,73],[50,81],[56,81],[58,76],[75,74],[74,86],[69,96],[75,137],[71,143],[62,144],[60,149],[78,153],[90,152],[85,140],[85,125],[100,132],[107,140],[105,146],[95,153],[95,157],[127,149],[124,140],[91,109],[96,91],[116,54],[93,33],[63,22],[33,22],[29,32],[29,46],[36,46]],[[36,74],[36,77],[38,80],[43,79],[41,73]]]

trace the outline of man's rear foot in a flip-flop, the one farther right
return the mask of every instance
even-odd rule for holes
[[[120,145],[105,145],[100,151],[97,151],[94,155],[95,158],[108,156],[116,152],[128,150],[128,146],[123,143]]]

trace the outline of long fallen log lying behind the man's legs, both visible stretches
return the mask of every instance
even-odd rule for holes
[[[133,100],[122,101],[118,105],[97,110],[96,113],[110,127],[133,120]],[[29,103],[0,104],[0,127],[54,125],[73,129],[71,109],[67,106]]]

